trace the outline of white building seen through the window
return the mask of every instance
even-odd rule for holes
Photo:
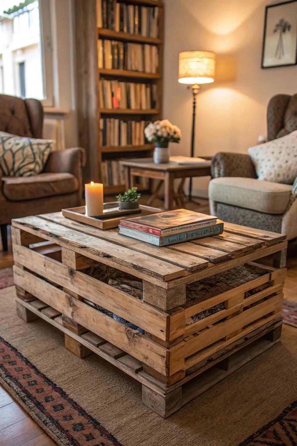
[[[5,13],[20,3],[0,0],[0,93],[43,99],[39,5]]]

